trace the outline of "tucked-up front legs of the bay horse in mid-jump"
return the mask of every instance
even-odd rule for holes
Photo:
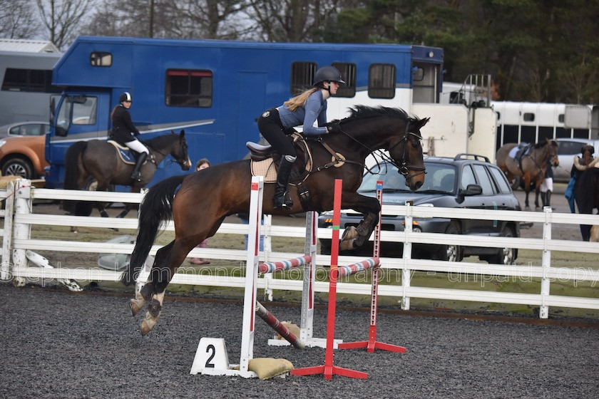
[[[364,219],[359,222],[358,227],[350,226],[345,229],[341,242],[339,242],[339,250],[345,251],[362,247],[379,222],[379,213],[381,212],[379,201],[376,198],[364,197],[355,192],[344,193],[341,206],[344,209],[351,208],[364,214]]]

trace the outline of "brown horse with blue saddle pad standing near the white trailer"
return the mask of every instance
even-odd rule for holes
[[[503,170],[503,173],[508,177],[508,182],[511,182],[514,177],[523,177],[524,192],[526,192],[526,200],[524,209],[530,210],[528,206],[528,193],[531,192],[532,185],[535,187],[535,209],[541,210],[538,204],[538,193],[541,188],[541,183],[545,179],[547,164],[551,161],[551,165],[558,166],[558,143],[556,140],[541,140],[533,145],[530,152],[522,157],[521,162],[514,160],[509,156],[510,151],[518,144],[510,142],[503,145],[496,154],[497,166]]]

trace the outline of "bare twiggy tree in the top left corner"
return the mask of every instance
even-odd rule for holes
[[[0,0],[0,37],[34,38],[39,21],[31,0]]]

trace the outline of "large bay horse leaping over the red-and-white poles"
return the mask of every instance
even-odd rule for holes
[[[389,161],[406,177],[406,186],[412,191],[418,190],[424,183],[420,129],[429,121],[429,118],[410,118],[399,108],[359,105],[350,109],[350,113],[348,118],[338,121],[341,132],[302,140],[312,154],[312,169],[305,172],[300,185],[302,190],[294,185],[290,187],[293,207],[273,209],[270,198],[275,192],[274,183],[265,184],[263,202],[263,212],[267,214],[331,210],[334,180],[342,179],[342,209],[351,208],[364,214],[357,229],[346,229],[342,249],[364,244],[379,220],[377,199],[356,192],[362,182],[367,155],[387,150]],[[299,158],[298,152],[298,161]],[[158,250],[148,281],[135,299],[130,300],[133,316],[149,301],[148,312],[140,326],[142,335],[158,321],[166,286],[187,254],[204,239],[212,237],[225,217],[249,212],[251,179],[250,160],[238,160],[213,165],[191,175],[170,177],[151,187],[145,195],[140,204],[135,248],[128,269],[121,276],[123,284],[135,282],[160,225],[170,219],[175,223],[175,239]],[[298,192],[302,193],[302,199]]]

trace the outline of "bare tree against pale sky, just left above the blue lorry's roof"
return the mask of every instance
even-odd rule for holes
[[[50,40],[56,47],[64,49],[77,35],[94,0],[36,0],[36,4]]]

